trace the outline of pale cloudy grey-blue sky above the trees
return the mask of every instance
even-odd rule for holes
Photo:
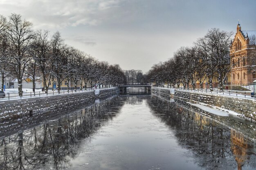
[[[67,45],[122,69],[146,73],[211,28],[256,30],[256,0],[0,0],[33,29],[61,32]]]

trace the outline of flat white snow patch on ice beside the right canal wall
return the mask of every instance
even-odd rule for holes
[[[195,107],[198,107],[201,110],[204,110],[205,112],[209,112],[209,113],[215,114],[217,116],[229,116],[229,114],[233,114],[233,115],[236,115],[236,116],[238,115],[238,113],[233,112],[231,110],[222,111],[222,110],[219,110],[217,108],[211,108],[211,107],[208,107],[208,106],[205,106],[205,105],[201,105],[201,104],[195,104],[195,103],[190,103],[190,102],[187,102],[187,103],[189,103],[190,105],[193,105]]]

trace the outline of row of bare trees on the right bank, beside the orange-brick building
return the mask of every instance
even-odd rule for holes
[[[219,80],[220,90],[227,80],[227,75],[231,70],[229,48],[232,32],[221,31],[220,29],[210,29],[207,34],[199,38],[192,47],[181,47],[173,58],[160,62],[148,72],[148,81],[156,82],[157,85],[168,83],[183,84],[184,88],[195,83],[209,83],[213,88],[213,78]],[[234,63],[235,64],[235,63]]]

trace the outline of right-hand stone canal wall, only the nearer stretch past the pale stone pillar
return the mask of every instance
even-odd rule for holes
[[[220,107],[225,110],[237,112],[238,114],[241,114],[241,116],[256,120],[256,101],[254,100],[211,94],[200,94],[195,92],[191,93],[178,90],[175,91],[174,98],[192,103],[203,103],[210,107]]]

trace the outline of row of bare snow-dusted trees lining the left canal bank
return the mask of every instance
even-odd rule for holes
[[[2,89],[4,78],[18,80],[19,94],[22,96],[22,78],[32,77],[33,89],[36,77],[43,81],[45,92],[48,92],[50,81],[57,82],[60,92],[61,83],[83,83],[118,85],[125,83],[125,75],[119,65],[100,62],[82,51],[66,45],[57,31],[52,36],[47,30],[32,29],[32,23],[22,20],[19,14],[11,14],[9,20],[0,16],[0,73]],[[53,85],[53,83],[52,83]]]

